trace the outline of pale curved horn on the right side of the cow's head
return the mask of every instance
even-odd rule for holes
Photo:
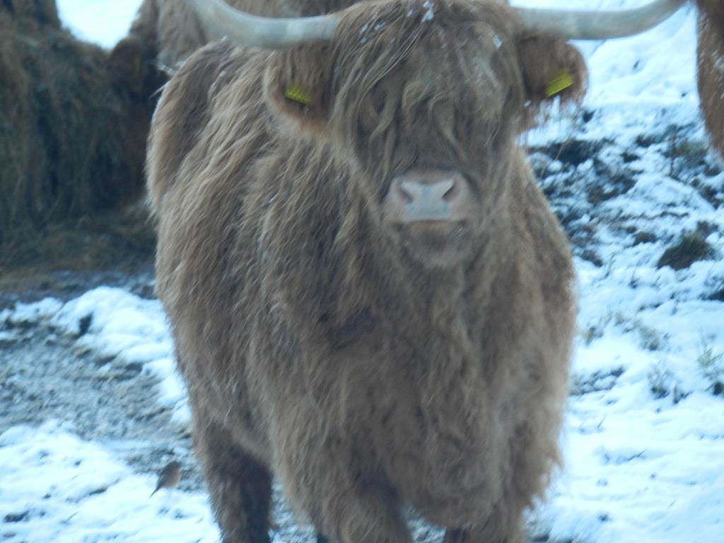
[[[656,0],[636,9],[618,12],[536,9],[517,7],[515,12],[528,30],[560,35],[568,40],[623,38],[648,30],[667,19],[686,0]]]

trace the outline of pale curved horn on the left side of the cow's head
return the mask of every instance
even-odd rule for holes
[[[301,43],[329,41],[337,27],[337,19],[332,15],[270,19],[240,12],[222,0],[186,1],[211,36],[227,36],[243,46],[288,49]]]

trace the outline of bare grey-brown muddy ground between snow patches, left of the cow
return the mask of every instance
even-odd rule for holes
[[[108,282],[148,292],[150,281],[150,275],[58,272],[56,282],[3,292],[2,301],[11,305],[18,298],[70,298]],[[180,486],[200,489],[188,429],[174,425],[169,409],[157,402],[156,384],[156,377],[140,364],[83,350],[75,338],[49,327],[0,323],[0,434],[16,424],[71,421],[80,437],[103,443],[140,473],[155,472],[172,458],[180,460]]]

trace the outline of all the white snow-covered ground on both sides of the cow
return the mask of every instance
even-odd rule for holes
[[[119,4],[122,12],[109,17],[105,10]],[[105,45],[127,28],[132,4],[59,1],[69,28]],[[697,109],[694,20],[684,9],[644,35],[581,44],[591,70],[582,111],[526,138],[571,235],[580,298],[566,467],[531,515],[540,541],[724,541],[724,396],[716,385],[724,380],[724,174],[707,154]],[[662,256],[687,235],[704,258],[665,265]],[[143,363],[161,379],[160,401],[177,421],[188,420],[158,302],[103,287],[67,303],[1,311],[0,330],[4,321],[67,334],[90,323],[77,340],[82,347]],[[0,331],[0,340],[9,333]],[[218,537],[203,494],[171,490],[148,500],[151,476],[132,473],[104,444],[79,439],[67,422],[9,429],[0,436],[0,466],[6,542]]]

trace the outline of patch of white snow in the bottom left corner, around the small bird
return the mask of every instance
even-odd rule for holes
[[[72,426],[49,421],[0,435],[0,538],[7,543],[216,542],[205,494],[132,473]]]

